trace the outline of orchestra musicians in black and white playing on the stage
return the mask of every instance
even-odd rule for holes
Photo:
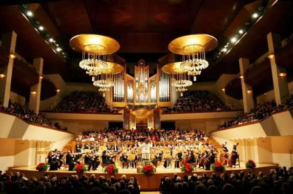
[[[77,153],[67,151],[64,153],[55,149],[48,153],[49,170],[58,170],[61,168],[63,161],[72,171],[74,165],[83,162],[88,165],[88,171],[98,169],[100,163],[104,166],[108,164],[121,164],[122,168],[137,168],[142,166],[145,160],[149,160],[155,167],[158,162],[164,162],[164,167],[180,168],[182,165],[189,163],[194,167],[210,170],[211,164],[219,161],[222,165],[232,167],[239,158],[237,144],[233,145],[231,154],[227,148],[227,142],[221,144],[221,148],[216,149],[215,145],[207,142],[196,142],[185,144],[184,142],[173,142],[172,144],[153,145],[151,141],[146,140],[144,143],[133,145],[110,145],[104,144],[80,144],[76,145]],[[86,151],[84,157],[82,154]],[[102,154],[101,154],[102,153]],[[101,159],[101,160],[100,160]],[[117,160],[118,159],[118,160]]]

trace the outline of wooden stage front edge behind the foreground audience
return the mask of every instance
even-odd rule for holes
[[[262,171],[263,173],[268,174],[271,169],[273,169],[274,167],[277,167],[278,165],[277,164],[258,163],[258,164],[256,164],[255,169],[246,169],[245,162],[240,162],[240,166],[241,167],[236,166],[235,168],[226,168],[225,172],[227,172],[228,174],[231,174],[232,172],[239,173],[240,171],[244,171],[246,174],[249,172],[253,172],[254,174],[257,175],[260,171]],[[82,174],[77,174],[76,172],[64,171],[63,168],[58,171],[45,171],[45,172],[39,172],[35,169],[36,169],[35,166],[9,167],[8,171],[13,172],[13,173],[16,173],[16,172],[24,173],[24,175],[27,178],[30,178],[33,176],[40,178],[40,177],[44,176],[45,174],[49,174],[49,176],[56,175],[57,177],[62,177],[62,176],[69,177],[71,175],[82,176]],[[178,176],[183,177],[184,175],[190,176],[193,174],[197,174],[198,176],[202,176],[203,173],[207,173],[209,176],[212,173],[216,173],[218,176],[220,176],[223,172],[216,172],[216,171],[212,171],[212,170],[206,171],[203,169],[196,169],[192,173],[182,173],[180,171],[180,169],[178,169],[178,168],[177,169],[174,169],[174,168],[165,169],[164,167],[158,167],[157,172],[152,175],[144,175],[141,173],[137,173],[136,169],[121,169],[121,168],[119,169],[119,173],[112,174],[112,175],[104,173],[101,168],[99,168],[98,170],[95,170],[95,171],[86,172],[84,174],[87,176],[95,174],[96,177],[105,176],[105,178],[108,178],[110,176],[115,176],[116,178],[119,178],[122,175],[126,175],[127,178],[130,178],[131,176],[135,176],[141,186],[141,191],[159,191],[159,184],[161,182],[161,178],[163,178],[164,176],[173,177],[175,173],[177,173]]]

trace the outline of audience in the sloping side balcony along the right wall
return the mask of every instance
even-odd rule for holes
[[[290,99],[283,102],[283,105],[279,106],[277,106],[274,100],[265,102],[263,104],[258,104],[255,108],[252,108],[249,113],[244,113],[239,117],[220,125],[219,129],[262,120],[271,116],[275,112],[286,110],[291,107],[293,107],[293,96],[291,96]]]

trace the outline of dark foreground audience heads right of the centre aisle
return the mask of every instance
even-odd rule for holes
[[[286,176],[287,170],[277,175],[276,170],[266,176],[255,176],[253,173],[245,175],[243,171],[239,174],[227,172],[217,176],[213,173],[208,176],[196,174],[183,177],[174,174],[160,181],[161,194],[292,194],[293,193],[293,167],[288,169],[291,176]]]

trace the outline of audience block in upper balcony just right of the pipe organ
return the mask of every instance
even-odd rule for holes
[[[168,107],[165,113],[225,110],[230,108],[208,90],[190,90],[184,92],[184,95],[173,106]]]

